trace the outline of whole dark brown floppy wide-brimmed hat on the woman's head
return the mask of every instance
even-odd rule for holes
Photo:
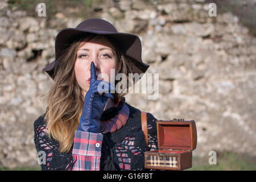
[[[54,80],[55,62],[65,49],[70,45],[72,38],[85,33],[108,35],[115,40],[117,46],[122,50],[123,54],[131,59],[131,69],[133,73],[145,73],[150,65],[142,62],[142,44],[137,35],[117,32],[115,27],[108,21],[100,18],[91,18],[84,20],[76,28],[64,28],[55,39],[55,60],[43,69]],[[67,44],[69,43],[69,44]]]

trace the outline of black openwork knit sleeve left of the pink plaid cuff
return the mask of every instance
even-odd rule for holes
[[[44,115],[34,122],[34,142],[42,171],[66,171],[72,167],[72,152],[59,152],[59,143],[46,135]]]

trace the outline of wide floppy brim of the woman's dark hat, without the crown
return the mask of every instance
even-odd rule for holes
[[[57,57],[67,49],[72,43],[74,37],[82,35],[84,33],[108,35],[113,38],[123,53],[131,57],[131,68],[133,73],[145,73],[150,65],[143,63],[141,59],[141,40],[137,35],[127,34],[122,32],[108,32],[98,30],[84,30],[80,28],[64,28],[61,30],[55,40],[55,60],[48,64],[43,71],[46,71],[48,75],[54,80],[54,68]]]

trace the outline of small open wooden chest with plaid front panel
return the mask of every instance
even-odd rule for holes
[[[144,152],[144,168],[183,170],[192,167],[192,150],[197,144],[194,120],[156,121],[158,150]]]

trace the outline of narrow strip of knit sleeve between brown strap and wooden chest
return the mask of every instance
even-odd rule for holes
[[[156,121],[154,115],[147,113],[148,151],[158,150]]]

